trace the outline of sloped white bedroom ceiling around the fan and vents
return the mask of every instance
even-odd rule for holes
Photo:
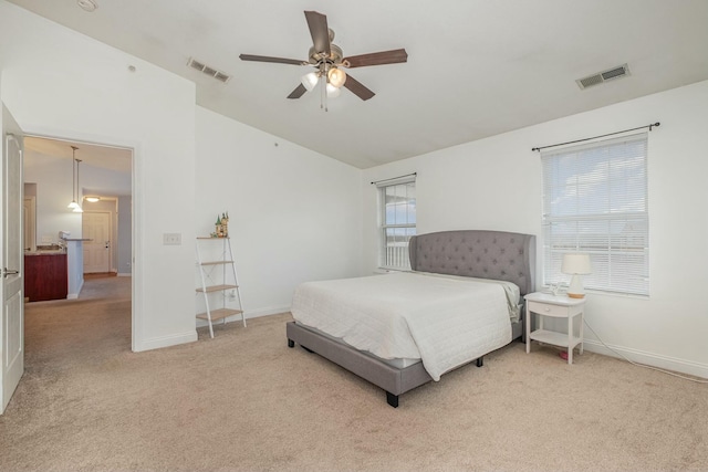
[[[708,80],[706,0],[10,0],[197,84],[197,103],[367,168]],[[376,93],[287,99],[306,67],[304,10],[327,15],[344,55],[405,48],[353,69]],[[190,57],[231,75],[222,84]],[[575,80],[627,63],[631,75]],[[641,125],[641,124],[639,124]]]

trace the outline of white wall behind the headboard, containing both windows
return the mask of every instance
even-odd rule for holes
[[[702,82],[368,169],[362,179],[365,272],[377,265],[372,180],[418,172],[419,233],[493,229],[540,240],[541,161],[531,148],[658,120],[648,155],[650,296],[590,294],[586,319],[635,360],[708,377],[707,109]],[[586,339],[590,350],[610,354],[592,333]]]

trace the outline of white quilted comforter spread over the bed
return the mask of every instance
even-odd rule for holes
[[[381,358],[419,358],[439,380],[511,342],[519,289],[508,285],[416,272],[308,282],[295,290],[292,315]]]

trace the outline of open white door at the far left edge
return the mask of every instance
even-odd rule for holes
[[[2,105],[2,191],[0,211],[0,297],[2,324],[0,325],[0,413],[10,402],[22,374],[24,374],[24,300],[22,250],[22,132],[10,112]]]

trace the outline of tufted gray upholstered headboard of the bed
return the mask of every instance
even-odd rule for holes
[[[410,269],[516,283],[521,295],[535,290],[535,235],[459,230],[418,234],[408,244]]]

